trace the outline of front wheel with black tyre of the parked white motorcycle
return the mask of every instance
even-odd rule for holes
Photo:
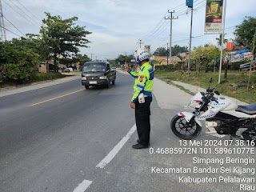
[[[190,140],[201,133],[202,127],[197,122],[186,122],[186,119],[176,114],[170,122],[170,129],[178,138]]]

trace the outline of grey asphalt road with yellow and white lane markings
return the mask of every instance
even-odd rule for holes
[[[0,191],[240,191],[237,183],[181,183],[180,174],[152,173],[154,166],[193,167],[193,154],[131,148],[137,139],[130,109],[133,83],[118,73],[110,89],[85,90],[77,79],[1,97]],[[173,97],[165,98],[167,92]],[[170,119],[188,98],[177,88],[154,97],[151,150],[179,146]]]

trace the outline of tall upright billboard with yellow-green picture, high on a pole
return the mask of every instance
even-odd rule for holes
[[[223,0],[206,0],[205,32],[222,30]]]

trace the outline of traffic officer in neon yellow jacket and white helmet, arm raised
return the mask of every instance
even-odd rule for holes
[[[149,63],[149,50],[138,49],[134,53],[134,58],[140,66],[138,73],[130,70],[126,65],[128,73],[135,78],[134,95],[130,102],[130,108],[135,108],[138,143],[133,145],[133,148],[142,149],[150,146],[150,103],[152,102],[154,70]]]

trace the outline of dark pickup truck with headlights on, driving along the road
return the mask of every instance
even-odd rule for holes
[[[116,71],[112,70],[109,62],[86,62],[82,68],[82,86],[106,86],[110,88],[110,82],[114,85]]]

